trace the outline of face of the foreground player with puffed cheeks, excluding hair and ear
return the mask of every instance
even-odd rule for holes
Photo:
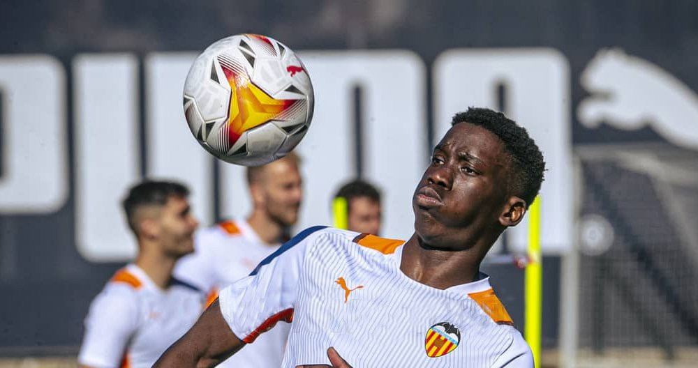
[[[479,126],[458,123],[446,133],[413,197],[415,231],[424,243],[462,250],[500,229],[507,157],[498,137]]]

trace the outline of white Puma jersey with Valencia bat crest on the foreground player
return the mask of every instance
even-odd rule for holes
[[[420,284],[400,270],[403,243],[306,229],[223,289],[221,312],[244,342],[292,321],[285,368],[329,364],[329,346],[353,367],[533,367],[487,275]]]

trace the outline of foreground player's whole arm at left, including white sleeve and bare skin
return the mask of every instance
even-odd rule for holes
[[[221,290],[218,300],[155,366],[212,367],[244,344],[253,343],[277,322],[290,322],[306,246],[310,235],[320,229],[302,231],[262,261],[251,275]]]

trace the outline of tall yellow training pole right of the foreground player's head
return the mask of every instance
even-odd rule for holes
[[[526,312],[524,334],[540,367],[543,305],[543,266],[540,256],[540,197],[528,208],[528,266],[526,266]]]

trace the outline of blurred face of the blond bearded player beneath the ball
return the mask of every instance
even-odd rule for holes
[[[298,221],[303,187],[298,166],[293,160],[267,164],[262,178],[264,207],[269,217],[289,227]]]

